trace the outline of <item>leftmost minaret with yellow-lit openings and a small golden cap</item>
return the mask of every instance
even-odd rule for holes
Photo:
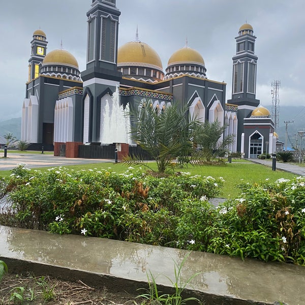
[[[38,77],[42,61],[46,56],[47,44],[46,34],[41,29],[37,29],[31,41],[32,52],[28,59],[28,82]]]

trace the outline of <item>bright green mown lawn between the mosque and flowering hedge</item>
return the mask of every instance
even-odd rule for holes
[[[93,160],[94,162],[94,160]],[[149,163],[149,166],[153,169],[157,169],[156,163]],[[80,169],[102,169],[111,167],[113,171],[125,172],[128,169],[128,165],[124,163],[92,163],[83,165],[70,165],[66,168],[80,170]],[[133,166],[137,168],[137,166]],[[47,167],[39,168],[42,171],[47,170]],[[144,167],[142,170],[145,171]],[[223,198],[233,198],[239,194],[239,190],[236,188],[236,184],[243,179],[246,182],[253,184],[254,182],[263,181],[269,179],[275,181],[279,178],[291,179],[296,175],[276,170],[272,171],[270,167],[266,167],[261,164],[249,163],[249,162],[232,162],[226,165],[201,165],[201,166],[188,166],[176,171],[190,172],[193,175],[223,177],[225,179]],[[0,176],[9,176],[11,171],[0,171]]]

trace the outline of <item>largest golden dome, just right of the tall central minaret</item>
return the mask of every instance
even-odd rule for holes
[[[139,66],[162,71],[158,53],[144,42],[131,41],[117,50],[117,66]]]

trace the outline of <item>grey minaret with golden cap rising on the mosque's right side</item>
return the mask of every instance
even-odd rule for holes
[[[239,28],[236,40],[236,54],[233,56],[232,99],[235,105],[259,105],[256,99],[256,65],[258,57],[254,54],[255,39],[253,27],[245,23]]]

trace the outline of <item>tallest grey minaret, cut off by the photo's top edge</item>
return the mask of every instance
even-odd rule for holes
[[[84,142],[99,141],[101,100],[112,95],[122,77],[116,66],[119,15],[115,0],[93,0],[87,12],[86,70],[81,72]]]

